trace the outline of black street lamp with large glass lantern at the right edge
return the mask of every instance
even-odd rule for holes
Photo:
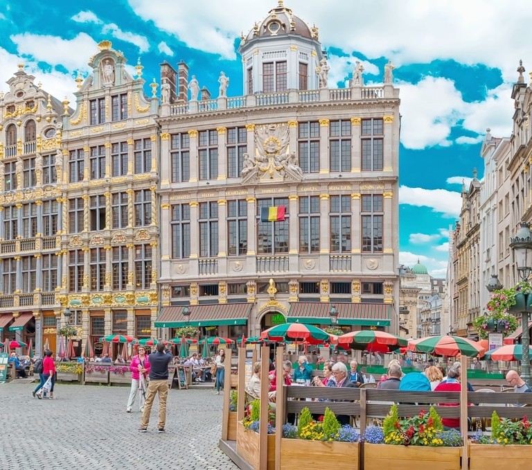
[[[517,264],[517,274],[522,281],[528,281],[532,273],[532,233],[530,224],[521,222],[517,234],[511,238],[510,247],[513,250],[515,263]],[[530,335],[529,335],[529,312],[526,310],[528,305],[528,295],[525,294],[524,311],[521,312],[521,327],[523,358],[521,360],[521,376],[528,384],[530,381]]]

